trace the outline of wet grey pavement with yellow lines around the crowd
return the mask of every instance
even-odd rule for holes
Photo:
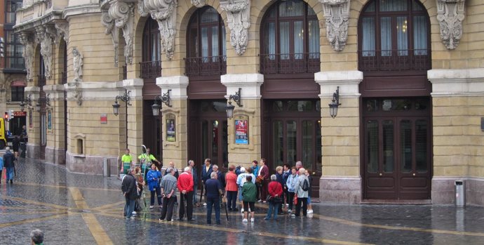
[[[160,223],[157,208],[123,217],[114,176],[39,161],[16,171],[13,185],[5,172],[0,185],[0,244],[29,244],[34,229],[43,230],[44,244],[484,244],[483,207],[314,204],[308,217],[266,221],[267,206],[258,204],[255,223],[243,224],[240,213],[227,221],[223,213],[222,225],[206,225],[203,207],[193,222]]]

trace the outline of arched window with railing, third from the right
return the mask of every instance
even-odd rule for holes
[[[227,73],[225,25],[215,8],[206,6],[191,16],[187,34],[185,74]]]

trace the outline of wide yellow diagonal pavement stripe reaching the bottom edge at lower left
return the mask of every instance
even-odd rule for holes
[[[69,187],[69,192],[71,192],[77,208],[85,210],[89,208],[79,188]],[[93,234],[97,244],[113,244],[93,213],[81,213],[81,217],[83,218],[84,222],[86,222],[86,225],[88,226],[90,233]]]

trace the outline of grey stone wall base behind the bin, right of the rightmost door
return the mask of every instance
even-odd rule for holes
[[[455,180],[464,180],[466,205],[484,206],[484,178],[433,177],[432,204],[455,204]]]

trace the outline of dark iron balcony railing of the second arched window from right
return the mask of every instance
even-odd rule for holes
[[[260,54],[262,74],[314,73],[321,69],[319,53]]]

